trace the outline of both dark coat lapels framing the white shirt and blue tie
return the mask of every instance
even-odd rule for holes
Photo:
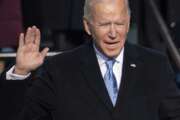
[[[91,44],[88,44],[85,49],[83,49],[82,59],[81,59],[81,71],[87,85],[95,93],[95,96],[99,101],[101,101],[110,112],[114,114],[120,114],[121,110],[126,109],[123,107],[127,102],[127,95],[129,95],[134,82],[138,78],[137,72],[140,71],[140,61],[138,60],[138,52],[133,45],[126,43],[124,51],[124,63],[123,63],[123,73],[121,79],[120,90],[117,98],[117,103],[115,108],[113,108],[112,102],[108,95],[107,89],[104,84],[104,80],[101,76],[98,61]],[[119,116],[119,115],[117,115]]]

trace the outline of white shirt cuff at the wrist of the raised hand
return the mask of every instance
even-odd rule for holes
[[[15,66],[11,67],[11,69],[6,72],[6,80],[25,80],[31,75],[31,73],[28,73],[27,75],[14,74],[14,67]]]

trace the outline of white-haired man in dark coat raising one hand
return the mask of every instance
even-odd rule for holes
[[[47,60],[28,90],[22,120],[180,120],[180,92],[165,56],[125,43],[127,0],[86,0],[84,28],[92,40]],[[39,67],[40,32],[20,35],[6,79]]]

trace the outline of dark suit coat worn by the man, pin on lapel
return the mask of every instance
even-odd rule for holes
[[[44,64],[28,90],[20,119],[180,120],[180,93],[166,57],[129,44],[124,54],[115,107],[88,43]]]

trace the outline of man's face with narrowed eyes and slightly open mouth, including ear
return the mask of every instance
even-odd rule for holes
[[[129,30],[128,8],[124,0],[93,6],[91,20],[84,19],[86,32],[107,57],[116,57],[124,46]]]

